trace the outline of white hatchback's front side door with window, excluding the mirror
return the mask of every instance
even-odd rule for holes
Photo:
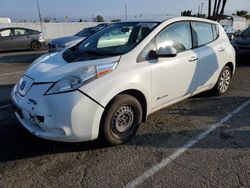
[[[191,94],[197,87],[198,52],[192,49],[190,22],[173,23],[156,36],[157,50],[172,46],[176,57],[158,58],[151,63],[153,108]]]

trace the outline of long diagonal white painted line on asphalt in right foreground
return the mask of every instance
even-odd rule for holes
[[[170,162],[175,160],[177,157],[179,157],[181,154],[183,154],[187,149],[191,148],[194,144],[201,141],[203,138],[205,138],[208,134],[213,132],[215,129],[217,129],[218,127],[223,127],[224,126],[223,124],[225,122],[227,122],[235,114],[239,113],[242,109],[244,109],[249,104],[250,104],[250,101],[246,101],[245,103],[243,103],[240,107],[238,107],[232,113],[230,113],[225,118],[220,120],[218,123],[213,124],[212,126],[210,126],[210,128],[208,128],[207,130],[202,132],[196,138],[190,140],[187,144],[182,146],[180,149],[176,150],[173,154],[171,154],[170,156],[164,158],[160,163],[158,163],[155,166],[151,167],[149,170],[144,172],[141,176],[137,177],[135,180],[129,182],[125,187],[134,188],[134,187],[137,187],[137,186],[141,185],[145,180],[147,180],[151,176],[155,175],[158,171],[160,171],[162,168],[164,168]]]

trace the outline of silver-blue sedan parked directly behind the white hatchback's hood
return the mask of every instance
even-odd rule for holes
[[[107,23],[102,23],[94,27],[84,28],[73,36],[61,37],[57,39],[53,39],[48,43],[49,52],[58,52],[63,50],[66,47],[77,44],[88,36],[94,34],[100,29],[106,27]]]

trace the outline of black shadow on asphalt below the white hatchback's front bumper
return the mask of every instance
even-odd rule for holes
[[[1,110],[0,110],[1,111]],[[1,112],[0,112],[1,113]],[[11,113],[11,117],[8,116]],[[6,117],[1,117],[6,115]],[[0,163],[48,154],[90,151],[108,147],[99,140],[82,143],[47,141],[31,135],[15,119],[10,108],[0,116]]]

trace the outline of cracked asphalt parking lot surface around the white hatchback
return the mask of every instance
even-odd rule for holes
[[[10,91],[41,52],[0,54],[0,187],[250,187],[250,62],[229,92],[149,116],[130,142],[58,143],[27,133]]]

